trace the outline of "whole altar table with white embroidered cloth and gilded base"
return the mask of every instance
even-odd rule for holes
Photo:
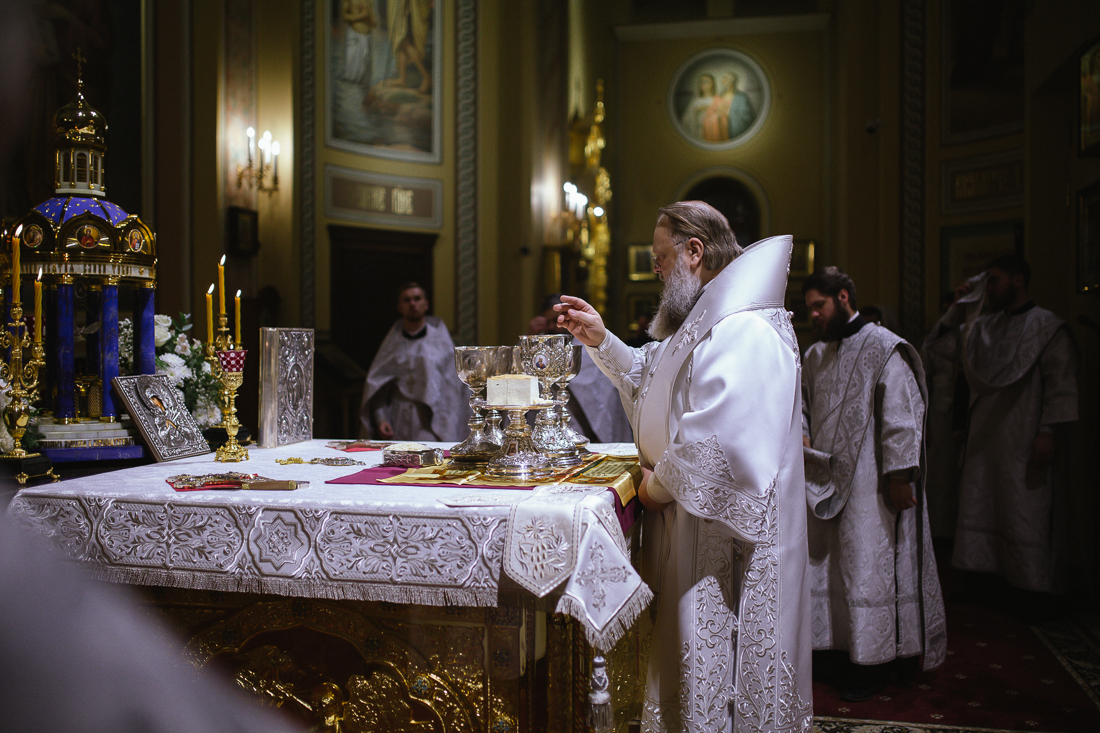
[[[581,731],[590,646],[608,656],[616,727],[636,714],[650,593],[613,492],[331,484],[363,467],[276,462],[382,460],[321,440],[250,456],[28,488],[9,512],[94,578],[145,587],[193,663],[311,720],[336,705],[344,731]],[[224,471],[309,484],[166,482]]]

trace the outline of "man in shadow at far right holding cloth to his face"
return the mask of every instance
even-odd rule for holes
[[[969,386],[952,565],[1059,592],[1077,347],[1066,321],[1031,299],[1030,284],[1023,258],[998,258],[956,291],[959,302],[937,325],[941,339],[961,339]],[[979,315],[983,299],[991,313]]]

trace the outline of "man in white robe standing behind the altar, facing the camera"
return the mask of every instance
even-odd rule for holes
[[[454,368],[447,325],[426,315],[429,303],[416,283],[397,296],[400,318],[386,333],[363,385],[362,437],[461,440],[470,407]]]

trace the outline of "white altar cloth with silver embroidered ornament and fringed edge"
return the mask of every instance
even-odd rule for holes
[[[518,569],[508,575],[520,586],[529,588],[517,576],[526,580],[528,570],[560,562],[557,533],[536,529],[512,540],[517,526],[520,534],[527,526],[524,517],[568,513],[570,571],[543,593],[564,583],[558,611],[578,619],[590,642],[606,650],[651,598],[630,567],[612,492],[570,484],[535,491],[326,484],[351,469],[276,463],[339,455],[314,440],[250,450],[252,460],[234,464],[310,482],[296,491],[177,493],[165,481],[169,475],[227,468],[196,456],[24,489],[9,512],[100,580],[472,606],[497,605],[509,543]],[[381,457],[364,453],[363,460]]]

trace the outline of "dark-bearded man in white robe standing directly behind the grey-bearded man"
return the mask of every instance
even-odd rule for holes
[[[853,663],[840,698],[870,699],[886,665],[947,655],[944,599],[924,494],[924,369],[901,337],[856,310],[856,286],[825,267],[802,285],[824,332],[806,350],[802,411],[815,649]]]

